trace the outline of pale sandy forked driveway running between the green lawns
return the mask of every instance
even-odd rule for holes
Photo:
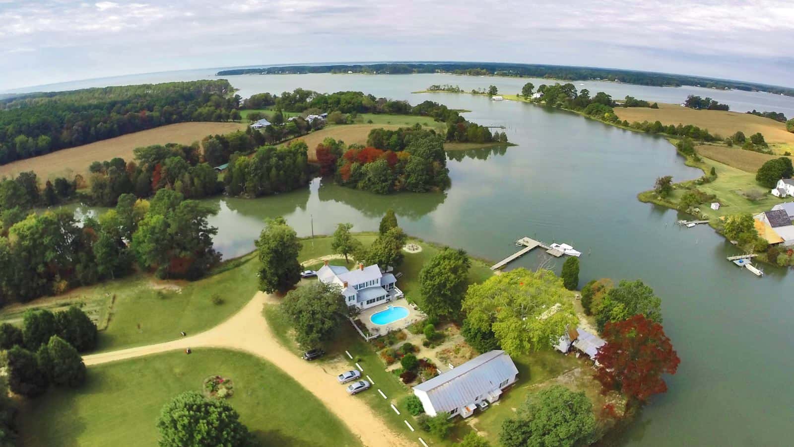
[[[336,374],[339,371],[324,371],[321,364],[306,362],[279,344],[273,337],[268,321],[262,315],[262,307],[266,302],[276,301],[271,295],[256,293],[240,312],[206,332],[160,344],[101,352],[85,356],[83,361],[90,366],[185,348],[227,348],[250,352],[274,363],[317,396],[350,431],[357,434],[364,445],[416,445],[390,430],[360,398],[347,395],[345,387],[337,383]]]

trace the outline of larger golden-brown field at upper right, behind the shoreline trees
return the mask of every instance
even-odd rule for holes
[[[688,107],[680,107],[678,104],[659,104],[658,109],[615,107],[615,115],[618,115],[619,119],[625,119],[628,122],[654,122],[658,120],[665,126],[670,124],[692,124],[693,126],[708,129],[711,134],[719,134],[723,137],[735,134],[738,130],[741,130],[747,136],[761,132],[766,142],[781,145],[781,147],[777,148],[781,154],[783,150],[794,148],[794,134],[786,131],[786,125],[783,122],[746,113],[696,111]],[[783,146],[788,146],[788,148]]]

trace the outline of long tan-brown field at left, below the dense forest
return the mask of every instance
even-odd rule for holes
[[[121,135],[101,142],[58,150],[40,157],[14,161],[0,166],[0,177],[12,177],[17,173],[33,171],[44,181],[55,177],[74,177],[75,174],[88,173],[92,161],[105,161],[121,157],[133,159],[133,150],[154,144],[179,143],[191,144],[209,134],[228,134],[234,130],[245,129],[240,122],[180,122],[155,129],[142,130],[134,134]]]

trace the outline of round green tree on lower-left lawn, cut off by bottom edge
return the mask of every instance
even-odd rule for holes
[[[160,447],[252,445],[252,437],[229,403],[187,391],[160,410]]]

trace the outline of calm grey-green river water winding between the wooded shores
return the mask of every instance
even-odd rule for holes
[[[642,278],[653,287],[662,298],[665,331],[682,360],[678,374],[668,379],[669,392],[643,412],[626,445],[790,445],[794,275],[765,267],[767,276],[755,278],[725,260],[735,249],[711,228],[678,227],[676,212],[636,200],[637,192],[649,189],[661,175],[678,180],[700,176],[665,140],[526,103],[410,95],[443,83],[465,88],[497,84],[515,91],[526,80],[434,75],[230,79],[245,95],[306,87],[356,89],[414,103],[433,98],[471,110],[469,119],[506,126],[518,146],[450,154],[452,187],[444,193],[376,196],[318,179],[309,189],[279,196],[208,200],[218,207],[211,221],[219,228],[215,241],[225,257],[252,250],[268,217],[285,216],[300,235],[311,234],[311,222],[314,234],[330,234],[340,222],[354,223],[357,231],[374,231],[387,208],[395,208],[400,225],[411,235],[485,258],[510,254],[515,239],[525,235],[570,243],[584,252],[582,284],[591,278]],[[699,92],[598,84],[588,87],[668,102]],[[746,103],[745,108],[794,115],[790,98],[699,93],[737,110]],[[783,99],[784,106],[776,102]],[[538,251],[511,267],[531,268],[545,256]],[[554,259],[553,265],[559,270],[561,260]]]

